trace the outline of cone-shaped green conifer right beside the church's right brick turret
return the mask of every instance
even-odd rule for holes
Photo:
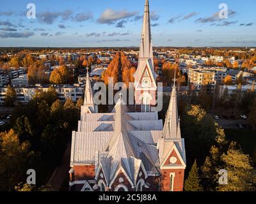
[[[191,170],[189,171],[188,179],[184,183],[184,191],[203,191],[202,186],[200,185],[198,168],[195,163],[193,164]]]

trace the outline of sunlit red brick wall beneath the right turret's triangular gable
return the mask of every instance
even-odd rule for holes
[[[161,170],[161,191],[170,191],[170,173],[175,173],[173,191],[183,191],[184,170]]]

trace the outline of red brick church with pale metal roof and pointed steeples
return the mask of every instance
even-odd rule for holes
[[[186,153],[175,80],[163,121],[151,112],[156,106],[156,78],[146,0],[134,73],[136,112],[129,112],[120,94],[111,112],[99,113],[87,73],[81,120],[72,133],[70,191],[183,191]]]

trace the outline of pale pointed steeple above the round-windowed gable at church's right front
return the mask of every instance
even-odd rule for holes
[[[164,122],[163,137],[164,138],[180,138],[179,116],[177,106],[177,92],[176,92],[176,71],[173,79],[172,95],[166,118]]]

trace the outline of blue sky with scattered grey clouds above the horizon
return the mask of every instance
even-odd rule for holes
[[[4,3],[3,3],[4,2]],[[28,3],[35,18],[28,18]],[[225,3],[227,18],[219,18]],[[0,47],[138,47],[145,0],[1,0]],[[154,46],[256,47],[256,0],[150,0]]]

